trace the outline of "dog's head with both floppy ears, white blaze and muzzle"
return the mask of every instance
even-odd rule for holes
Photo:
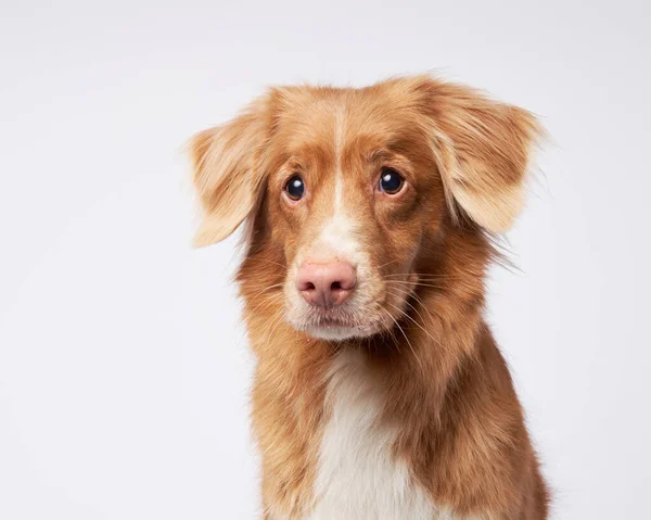
[[[295,329],[372,335],[400,317],[447,228],[512,225],[537,132],[529,113],[430,77],[276,88],[194,137],[196,244],[247,220],[247,255],[278,269]]]

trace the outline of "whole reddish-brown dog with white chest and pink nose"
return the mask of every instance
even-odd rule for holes
[[[541,136],[431,76],[279,87],[195,135],[195,245],[240,225],[266,520],[540,520],[484,317]]]

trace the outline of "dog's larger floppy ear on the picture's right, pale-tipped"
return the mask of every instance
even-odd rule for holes
[[[492,232],[511,228],[524,205],[529,155],[541,127],[528,112],[471,88],[421,78],[429,134],[448,204]]]

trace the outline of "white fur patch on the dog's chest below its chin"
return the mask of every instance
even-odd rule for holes
[[[446,518],[396,460],[396,431],[379,423],[383,391],[363,356],[342,351],[328,386],[332,416],[323,433],[316,505],[305,520]]]

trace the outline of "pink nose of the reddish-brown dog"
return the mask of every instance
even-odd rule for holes
[[[296,276],[296,289],[310,305],[334,307],[344,303],[357,284],[355,267],[347,262],[303,264]]]

